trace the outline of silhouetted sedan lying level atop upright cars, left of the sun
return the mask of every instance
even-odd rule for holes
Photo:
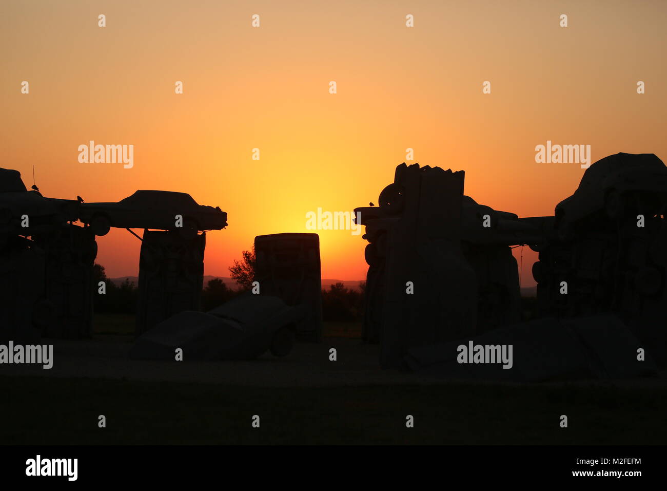
[[[197,230],[220,230],[227,226],[227,213],[220,208],[197,204],[185,192],[139,190],[117,203],[82,203],[79,219],[91,226],[95,235],[109,228],[157,228],[177,230],[191,238]],[[176,216],[182,226],[176,226]]]

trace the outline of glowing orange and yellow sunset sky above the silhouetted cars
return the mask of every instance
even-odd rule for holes
[[[3,0],[0,166],[30,186],[34,165],[49,197],[163,189],[220,206],[229,226],[207,234],[207,275],[228,276],[255,235],[309,231],[317,207],[377,203],[406,148],[466,170],[477,202],[552,214],[584,170],[536,164],[538,144],[666,158],[665,25],[659,0]],[[134,167],[80,164],[89,140],[133,144]],[[318,233],[323,278],[365,277],[360,236]],[[109,276],[137,274],[139,240],[98,240]],[[526,248],[524,285],[532,261]]]

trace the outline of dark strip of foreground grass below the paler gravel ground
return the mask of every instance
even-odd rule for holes
[[[0,377],[2,444],[665,444],[667,393]],[[107,428],[97,418],[107,418]],[[253,415],[259,429],[251,428]],[[406,415],[414,428],[406,428]],[[566,414],[568,428],[560,428]]]

